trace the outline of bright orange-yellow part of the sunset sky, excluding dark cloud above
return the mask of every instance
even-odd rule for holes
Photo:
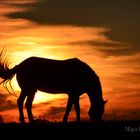
[[[129,44],[116,42],[108,38],[106,33],[111,28],[39,25],[27,19],[10,19],[4,15],[9,12],[26,11],[26,8],[6,5],[9,2],[11,4],[24,4],[33,3],[34,0],[30,2],[28,0],[23,2],[6,0],[0,3],[0,7],[2,7],[0,9],[0,50],[6,47],[10,67],[18,65],[24,59],[31,56],[61,60],[78,57],[89,64],[100,77],[103,98],[109,100],[106,105],[105,118],[107,118],[106,116],[108,114],[114,116],[114,112],[116,118],[120,115],[120,112],[121,114],[124,112],[126,114],[130,113],[130,118],[132,112],[138,112],[137,116],[139,117],[139,52],[132,55],[113,54],[112,52],[117,49],[121,51],[121,49],[129,47]],[[16,77],[12,80],[12,86],[16,94],[19,95],[20,88],[17,84]],[[2,85],[0,87],[1,93],[6,92]],[[17,117],[18,111],[15,105],[17,98],[13,100],[7,93],[5,94],[4,103],[7,106],[5,105],[6,107],[4,106],[1,109],[2,111],[0,110],[0,113],[2,115],[8,115],[12,111]],[[8,102],[9,100],[10,103]],[[89,108],[88,97],[83,95],[81,100],[83,116],[87,117],[87,108]],[[51,109],[57,110],[60,107],[61,112],[57,113],[58,116],[54,114],[54,118],[52,118],[54,120],[56,118],[62,118],[66,101],[67,95],[65,94],[53,95],[37,91],[33,102],[35,106],[34,112],[36,116],[44,117]],[[10,108],[11,102],[12,105],[15,105],[13,106],[14,109]],[[3,100],[0,103],[3,105]]]

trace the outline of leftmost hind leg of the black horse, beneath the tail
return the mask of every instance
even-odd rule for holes
[[[19,110],[19,121],[21,123],[25,123],[24,113],[23,113],[23,103],[24,103],[25,98],[26,98],[26,93],[25,91],[22,90],[17,100],[17,105],[18,105],[18,110]]]

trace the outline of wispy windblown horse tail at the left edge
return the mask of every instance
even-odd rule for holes
[[[0,52],[0,78],[3,80],[0,82],[0,85],[3,84],[3,87],[12,95],[15,95],[15,92],[11,85],[11,80],[16,74],[17,66],[14,68],[10,68],[9,63],[4,55],[4,49]],[[10,86],[12,92],[8,89],[8,85]]]

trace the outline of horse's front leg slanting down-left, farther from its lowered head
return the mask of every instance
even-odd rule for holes
[[[71,110],[73,104],[73,98],[71,96],[68,97],[68,102],[67,102],[67,106],[66,106],[66,111],[65,111],[65,115],[63,117],[63,122],[67,122],[68,120],[68,116]]]

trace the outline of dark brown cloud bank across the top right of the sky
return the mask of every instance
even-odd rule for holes
[[[107,34],[111,39],[140,45],[139,3],[137,0],[36,0],[26,5],[26,11],[7,16],[41,25],[111,27]],[[22,6],[25,7],[20,4]],[[139,50],[138,46],[135,47]]]

